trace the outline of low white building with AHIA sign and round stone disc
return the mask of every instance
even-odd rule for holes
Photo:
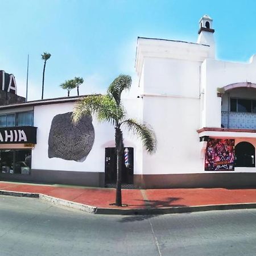
[[[89,116],[74,125],[71,114],[82,97],[86,96],[0,106],[1,180],[92,187],[114,184],[114,127]],[[131,186],[135,144],[132,137],[125,137],[129,166],[123,163],[122,176]]]

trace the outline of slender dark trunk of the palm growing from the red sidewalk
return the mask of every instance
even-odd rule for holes
[[[115,128],[115,149],[117,150],[117,189],[115,191],[115,205],[122,206],[122,158],[123,134],[119,127]]]

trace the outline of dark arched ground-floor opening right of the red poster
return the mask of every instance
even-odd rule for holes
[[[255,167],[255,147],[249,142],[240,142],[235,147],[236,167]]]

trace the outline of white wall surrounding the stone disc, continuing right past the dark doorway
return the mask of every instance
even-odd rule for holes
[[[141,120],[141,112],[138,111],[141,99],[124,100],[124,105],[129,110],[129,117]],[[114,147],[114,126],[106,122],[98,122],[93,116],[95,139],[92,150],[84,162],[64,160],[61,158],[48,158],[48,136],[53,117],[57,114],[72,112],[74,103],[51,104],[35,106],[34,126],[38,127],[37,144],[32,150],[32,169],[36,170],[61,170],[82,172],[105,171],[105,147]],[[124,144],[126,147],[134,147],[134,173],[140,174],[142,166],[139,164],[141,151],[137,150],[140,141],[132,133],[124,129]],[[138,163],[137,163],[138,162]]]

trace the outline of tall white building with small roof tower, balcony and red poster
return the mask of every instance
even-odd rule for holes
[[[142,187],[255,186],[255,56],[217,60],[212,21],[197,43],[138,38],[143,121],[158,135]]]

